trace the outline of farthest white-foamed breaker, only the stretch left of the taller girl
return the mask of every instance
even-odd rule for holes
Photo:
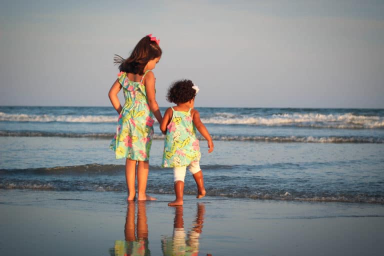
[[[0,112],[0,121],[18,122],[117,122],[117,116],[111,115],[49,115],[49,114],[9,114]]]

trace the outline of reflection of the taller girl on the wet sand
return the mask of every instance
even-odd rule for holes
[[[150,255],[148,247],[148,224],[146,222],[145,210],[145,201],[138,201],[137,225],[135,225],[135,203],[134,201],[128,201],[124,226],[125,241],[115,240],[114,248],[110,250],[111,255]]]

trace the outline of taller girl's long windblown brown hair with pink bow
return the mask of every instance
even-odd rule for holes
[[[146,35],[134,46],[127,59],[115,54],[113,63],[119,64],[118,69],[127,73],[143,74],[144,67],[149,60],[161,56],[161,48],[156,41]]]

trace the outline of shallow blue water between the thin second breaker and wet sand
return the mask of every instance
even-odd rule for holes
[[[114,159],[108,140],[44,139],[50,147],[40,137],[0,137],[3,145],[19,145],[12,153],[0,150],[0,188],[126,190],[124,160]],[[172,171],[159,167],[161,147],[153,141],[147,190],[172,193]],[[200,164],[212,196],[384,203],[382,154],[374,143],[217,141]],[[195,193],[188,173],[185,193]]]

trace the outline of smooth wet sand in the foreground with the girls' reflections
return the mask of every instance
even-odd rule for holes
[[[119,255],[121,244],[137,236],[150,255],[180,248],[198,255],[381,255],[384,249],[382,205],[186,195],[175,208],[166,205],[172,195],[155,196],[128,204],[120,192],[0,190],[0,254]]]

